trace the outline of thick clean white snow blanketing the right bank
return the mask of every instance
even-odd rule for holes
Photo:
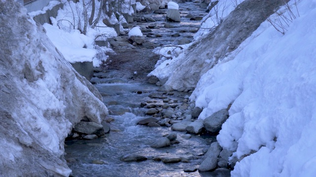
[[[316,0],[297,2],[285,35],[264,22],[191,96],[201,119],[233,103],[217,140],[240,160],[234,177],[316,176]]]

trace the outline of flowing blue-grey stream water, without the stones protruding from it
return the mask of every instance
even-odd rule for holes
[[[179,2],[178,2],[179,3]],[[205,9],[199,9],[196,3],[179,3],[184,14],[194,15],[206,13]],[[186,10],[194,9],[195,11]],[[158,20],[161,15],[156,15]],[[176,30],[185,30],[186,35],[192,37],[189,29],[197,28],[200,22],[183,19],[181,23],[172,23],[178,26]],[[156,22],[159,24],[161,22]],[[158,29],[157,29],[158,30]],[[175,29],[172,29],[175,30]],[[157,32],[157,31],[156,31]],[[170,33],[170,29],[160,29],[161,34]],[[167,38],[167,37],[166,37]],[[165,39],[166,39],[165,38]],[[153,43],[163,43],[161,39],[152,39]],[[158,41],[160,40],[160,41]],[[173,39],[165,40],[171,42]],[[102,73],[95,74],[102,76]],[[102,77],[100,77],[102,78]],[[206,135],[192,135],[190,139],[182,137],[185,132],[177,132],[179,144],[173,144],[166,148],[151,148],[152,142],[163,135],[172,132],[170,127],[148,127],[137,125],[137,122],[145,117],[146,110],[141,108],[143,102],[155,105],[163,105],[165,97],[176,100],[172,107],[184,104],[188,92],[173,91],[166,94],[159,91],[159,87],[149,84],[128,83],[121,78],[98,79],[93,78],[95,87],[103,96],[104,104],[108,107],[111,117],[115,120],[109,123],[110,133],[94,140],[70,140],[65,144],[65,158],[69,167],[73,170],[74,177],[227,177],[229,172],[186,173],[184,169],[198,167],[203,160],[203,154],[209,145],[216,141],[215,137]],[[150,94],[159,93],[160,98],[151,98]],[[162,109],[162,108],[158,108]],[[120,157],[126,154],[143,155],[148,160],[141,162],[123,162]],[[178,163],[163,163],[154,160],[163,157],[181,157]]]

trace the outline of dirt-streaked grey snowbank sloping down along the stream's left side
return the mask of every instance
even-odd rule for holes
[[[69,176],[67,133],[108,110],[18,2],[0,12],[0,176]]]

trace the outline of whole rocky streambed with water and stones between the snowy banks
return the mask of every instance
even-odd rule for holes
[[[227,160],[231,152],[221,150],[214,143],[216,132],[210,133],[200,126],[203,121],[197,117],[201,110],[189,101],[194,88],[167,92],[160,90],[159,84],[148,83],[158,81],[145,79],[158,60],[151,50],[192,41],[201,18],[191,18],[206,15],[206,8],[201,8],[199,1],[175,2],[180,6],[180,23],[166,22],[167,9],[159,9],[159,14],[155,10],[142,11],[133,16],[135,22],[126,24],[125,28],[141,27],[146,36],[142,45],[130,45],[128,35],[123,33],[111,39],[110,44],[117,53],[112,57],[120,59],[128,54],[133,60],[120,61],[118,68],[95,69],[90,82],[109,109],[108,122],[104,123],[111,131],[96,139],[66,140],[65,158],[73,170],[72,176],[230,176]],[[189,14],[191,17],[186,18]],[[207,160],[212,156],[211,151],[217,153],[215,162]],[[203,172],[201,163],[215,163],[216,168]]]

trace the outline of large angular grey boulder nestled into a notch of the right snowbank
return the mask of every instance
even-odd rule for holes
[[[226,109],[222,109],[212,116],[207,117],[203,121],[204,128],[210,132],[218,132],[222,128],[222,124],[228,118],[228,111]]]

